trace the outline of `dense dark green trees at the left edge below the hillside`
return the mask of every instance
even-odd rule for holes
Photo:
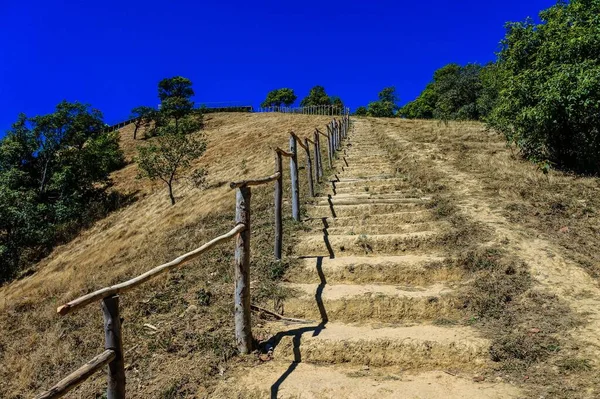
[[[0,141],[0,281],[110,209],[109,173],[123,164],[102,114],[66,101],[19,115]]]

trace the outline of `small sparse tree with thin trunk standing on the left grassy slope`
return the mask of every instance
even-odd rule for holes
[[[176,131],[165,133],[147,146],[138,147],[139,176],[161,180],[167,185],[171,205],[175,205],[173,183],[181,177],[182,169],[206,151],[206,142],[201,137],[181,134]]]

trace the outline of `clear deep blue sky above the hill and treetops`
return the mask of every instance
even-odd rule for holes
[[[175,75],[197,103],[317,84],[352,108],[391,85],[404,103],[447,63],[493,60],[506,21],[554,3],[0,0],[0,135],[63,99],[117,122],[156,106],[157,82]]]

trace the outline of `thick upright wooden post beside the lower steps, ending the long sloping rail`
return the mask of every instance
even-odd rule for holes
[[[252,352],[250,326],[250,187],[242,186],[236,192],[235,222],[246,229],[235,239],[235,341],[242,354]]]

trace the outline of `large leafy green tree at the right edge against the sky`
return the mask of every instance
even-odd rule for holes
[[[535,162],[600,172],[600,1],[559,2],[507,25],[491,127]]]

